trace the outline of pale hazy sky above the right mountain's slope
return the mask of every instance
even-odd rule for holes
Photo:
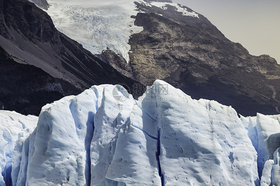
[[[173,0],[204,15],[250,54],[268,54],[280,64],[280,0]]]

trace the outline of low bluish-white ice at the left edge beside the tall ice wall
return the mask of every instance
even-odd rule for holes
[[[37,121],[36,116],[0,110],[0,186],[12,183],[12,167],[15,172],[19,169],[14,164],[19,164],[23,142],[33,132]]]

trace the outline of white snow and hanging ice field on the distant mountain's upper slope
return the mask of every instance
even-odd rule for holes
[[[32,0],[30,0],[32,1]],[[139,9],[135,0],[47,0],[50,7],[46,10],[54,25],[62,33],[78,41],[93,54],[101,54],[110,50],[122,56],[129,63],[131,35],[142,31],[135,26]],[[155,2],[138,0],[147,6],[167,8],[174,6],[182,15],[196,16],[186,8],[170,2]]]

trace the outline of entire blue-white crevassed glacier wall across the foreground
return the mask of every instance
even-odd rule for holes
[[[39,117],[0,111],[0,121],[0,185],[280,184],[280,115],[238,117],[161,80],[138,100],[93,86]]]

